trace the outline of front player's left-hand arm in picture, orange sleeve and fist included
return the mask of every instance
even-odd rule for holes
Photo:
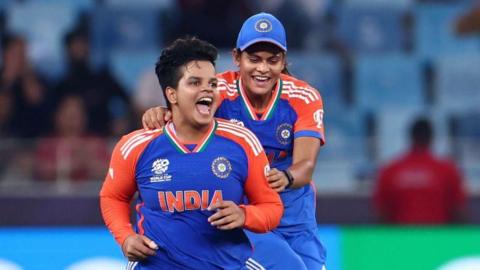
[[[136,234],[130,223],[130,202],[137,187],[134,155],[124,159],[121,152],[127,139],[122,138],[113,150],[110,168],[100,191],[100,209],[124,255],[136,261],[154,255],[158,247],[147,237]]]

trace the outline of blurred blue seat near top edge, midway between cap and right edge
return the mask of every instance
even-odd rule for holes
[[[395,52],[405,44],[400,8],[345,5],[337,14],[336,36],[354,52]]]

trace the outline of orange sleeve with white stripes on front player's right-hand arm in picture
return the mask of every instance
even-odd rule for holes
[[[248,129],[224,120],[218,120],[219,130],[245,149],[248,158],[248,176],[245,181],[245,195],[248,205],[245,210],[244,228],[253,232],[267,232],[278,226],[283,215],[283,204],[277,192],[267,182],[270,170],[267,156],[260,141]],[[237,134],[236,136],[231,135]],[[239,135],[238,135],[239,134]]]

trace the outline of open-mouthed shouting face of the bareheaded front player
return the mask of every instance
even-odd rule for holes
[[[208,126],[217,109],[217,78],[209,61],[190,61],[181,67],[183,76],[177,89],[167,87],[173,119],[179,124],[201,128]]]

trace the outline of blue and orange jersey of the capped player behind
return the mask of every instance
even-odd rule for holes
[[[238,72],[217,75],[220,104],[216,117],[250,129],[260,140],[272,168],[292,165],[295,138],[313,137],[325,143],[323,103],[319,92],[306,82],[282,74],[265,111],[250,104]],[[311,185],[281,193],[285,213],[278,230],[313,228],[315,188]]]

